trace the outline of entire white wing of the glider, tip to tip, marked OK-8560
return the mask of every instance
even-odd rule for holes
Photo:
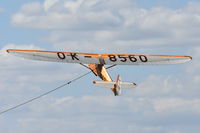
[[[165,65],[192,60],[191,56],[177,55],[90,54],[20,49],[8,49],[7,52],[31,60],[102,65]]]

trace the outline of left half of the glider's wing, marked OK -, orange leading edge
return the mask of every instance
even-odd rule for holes
[[[99,56],[97,54],[16,49],[8,49],[7,52],[31,60],[99,64]]]

